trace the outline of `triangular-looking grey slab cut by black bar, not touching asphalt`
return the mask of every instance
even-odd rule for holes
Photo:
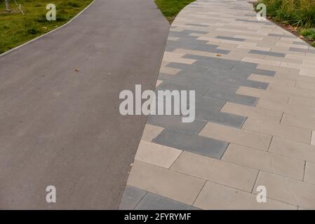
[[[177,202],[167,197],[147,193],[135,210],[199,210],[189,204]]]

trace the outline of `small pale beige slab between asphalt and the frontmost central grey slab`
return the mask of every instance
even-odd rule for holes
[[[149,141],[140,141],[135,160],[151,163],[153,165],[170,168],[173,162],[180,156],[181,150],[162,146]]]

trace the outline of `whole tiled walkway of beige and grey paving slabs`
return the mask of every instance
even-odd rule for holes
[[[196,120],[148,118],[121,209],[315,209],[314,48],[247,0],[198,0],[156,85],[196,90]]]

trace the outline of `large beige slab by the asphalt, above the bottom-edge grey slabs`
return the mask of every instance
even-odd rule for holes
[[[193,204],[204,183],[202,179],[193,176],[135,161],[127,185],[169,197],[178,202]]]

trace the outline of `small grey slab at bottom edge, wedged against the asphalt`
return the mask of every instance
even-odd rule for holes
[[[145,190],[134,188],[133,186],[126,186],[123,197],[121,197],[119,210],[135,209],[136,205],[145,197],[146,193]]]

